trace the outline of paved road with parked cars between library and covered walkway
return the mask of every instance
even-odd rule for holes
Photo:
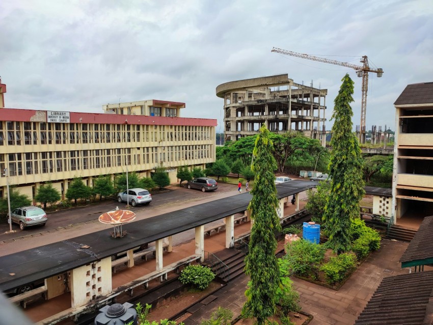
[[[237,195],[237,185],[219,183],[218,186],[217,191],[205,193],[195,189],[169,186],[164,193],[152,194],[152,203],[149,205],[131,207],[131,210],[137,214],[136,220],[142,220],[187,206]],[[99,215],[116,208],[116,206],[124,208],[125,204],[119,204],[114,200],[103,201],[100,204],[51,212],[48,213],[46,226],[29,227],[21,231],[18,225],[13,224],[12,229],[16,230],[14,233],[6,233],[9,230],[9,225],[4,223],[0,225],[0,256],[103,230],[107,225],[97,221]],[[174,245],[193,237],[194,230],[191,234],[182,233],[175,238]]]

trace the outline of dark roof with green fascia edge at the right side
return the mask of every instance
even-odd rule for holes
[[[401,267],[433,263],[433,215],[424,217],[400,262]]]

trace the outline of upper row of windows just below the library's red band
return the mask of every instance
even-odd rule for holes
[[[210,140],[210,127],[207,126],[166,126],[120,124],[67,124],[67,123],[36,123],[6,122],[3,131],[0,122],[0,146],[5,145],[46,145],[75,143],[116,143],[141,141],[201,141]],[[39,130],[37,126],[39,124]],[[5,141],[5,134],[7,141]],[[23,132],[23,133],[22,133]],[[22,138],[23,134],[23,138]]]

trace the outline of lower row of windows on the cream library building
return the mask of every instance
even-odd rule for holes
[[[194,145],[147,147],[143,148],[143,153],[131,153],[130,148],[9,153],[0,154],[0,169],[3,171],[9,168],[10,176],[20,176],[126,165],[156,166],[168,162],[210,158],[210,150],[211,145]],[[188,162],[182,162],[181,165],[187,164]],[[3,177],[3,173],[0,177]]]

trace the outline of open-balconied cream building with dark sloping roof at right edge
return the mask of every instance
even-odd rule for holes
[[[400,218],[433,215],[433,83],[408,85],[394,103],[393,211]]]

